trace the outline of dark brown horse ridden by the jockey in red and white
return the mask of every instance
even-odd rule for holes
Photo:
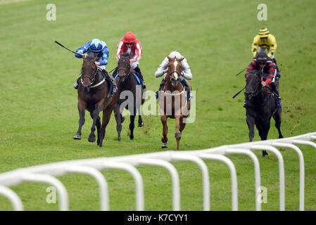
[[[122,122],[125,120],[122,117],[122,111],[124,108],[130,112],[129,122],[129,139],[134,139],[134,120],[137,112],[139,113],[138,127],[143,127],[144,122],[141,118],[141,105],[144,103],[143,90],[137,83],[137,78],[132,74],[135,73],[132,70],[129,59],[132,53],[120,53],[120,59],[118,60],[118,67],[114,72],[115,79],[118,82],[118,96],[120,96],[114,106],[114,114],[116,120],[116,130],[118,131],[118,141],[121,141],[120,133],[122,131]],[[123,97],[123,98],[122,98]]]

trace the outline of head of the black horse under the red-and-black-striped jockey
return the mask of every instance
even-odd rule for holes
[[[246,79],[246,88],[245,88],[245,97],[246,100],[251,100],[254,96],[257,96],[262,89],[260,73],[258,71],[251,72],[248,74]]]

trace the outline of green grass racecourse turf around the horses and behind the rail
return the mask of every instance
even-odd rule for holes
[[[4,4],[3,4],[4,3]],[[56,5],[57,20],[47,21],[47,4]],[[257,6],[267,4],[267,21],[257,19]],[[315,131],[315,1],[2,1],[0,3],[0,172],[48,162],[131,155],[160,151],[162,126],[157,115],[144,116],[134,141],[116,141],[114,117],[103,148],[87,141],[91,118],[86,115],[82,140],[74,141],[79,115],[72,88],[82,60],[54,44],[77,49],[93,38],[106,41],[107,70],[116,66],[115,51],[125,32],[133,31],[143,46],[140,68],[148,90],[160,79],[154,72],[170,51],[187,57],[194,75],[196,121],[182,134],[182,150],[212,148],[248,141],[243,94],[244,75],[235,77],[251,61],[251,43],[262,27],[277,38],[277,61],[282,73],[282,132],[285,137]],[[269,139],[277,138],[274,122]],[[169,149],[176,148],[175,122],[168,120]],[[255,141],[258,141],[255,132]],[[315,150],[301,148],[305,157],[305,210],[316,210]],[[260,160],[262,185],[267,187],[263,210],[278,210],[278,170],[274,155]],[[286,169],[286,210],[298,210],[298,158],[282,149]],[[229,156],[236,165],[239,209],[255,210],[253,164]],[[229,170],[207,160],[211,210],[230,210]],[[202,210],[201,172],[193,163],[174,163],[181,181],[182,210]],[[143,175],[145,210],[172,210],[170,175],[159,167],[138,167]],[[110,188],[111,210],[134,210],[134,181],[125,172],[103,174]],[[70,210],[99,210],[96,182],[89,176],[58,177],[68,188]],[[25,210],[58,210],[46,203],[46,185],[23,183],[13,190]],[[0,210],[11,210],[0,197]]]

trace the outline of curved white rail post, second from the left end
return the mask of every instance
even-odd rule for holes
[[[55,186],[56,190],[58,191],[58,203],[59,203],[59,210],[61,211],[68,211],[69,210],[69,200],[68,200],[68,193],[61,181],[56,179],[54,176],[47,175],[47,174],[31,174],[27,172],[20,173],[21,179],[23,181],[32,181],[32,182],[40,182],[50,184],[51,186]]]

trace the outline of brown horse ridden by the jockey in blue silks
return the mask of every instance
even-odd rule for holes
[[[110,120],[115,102],[118,98],[118,91],[113,97],[109,97],[110,86],[103,78],[101,71],[95,65],[96,57],[84,56],[82,63],[81,82],[78,86],[79,128],[77,134],[73,137],[75,140],[81,140],[81,130],[84,124],[85,110],[88,110],[93,120],[89,142],[96,141],[94,131],[97,130],[97,145],[102,147],[104,136],[106,135],[106,126]],[[99,113],[103,111],[102,125]]]

